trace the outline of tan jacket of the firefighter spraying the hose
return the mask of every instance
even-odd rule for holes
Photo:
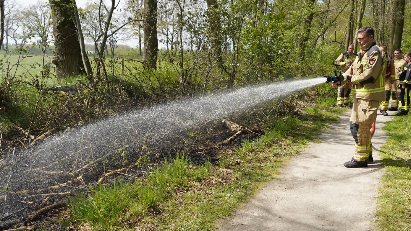
[[[345,72],[353,75],[353,98],[384,101],[386,55],[374,39],[360,49],[356,60]]]

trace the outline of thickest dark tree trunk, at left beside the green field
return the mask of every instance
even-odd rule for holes
[[[73,10],[73,2],[74,0],[50,0],[55,40],[53,64],[58,78],[86,74],[76,27],[69,14]]]

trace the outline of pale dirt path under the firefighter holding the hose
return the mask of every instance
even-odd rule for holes
[[[282,167],[279,181],[264,186],[239,208],[220,230],[229,231],[369,231],[373,230],[375,197],[383,174],[378,149],[386,141],[381,129],[391,117],[377,116],[372,139],[374,162],[350,169],[343,163],[353,156],[349,115],[330,126],[300,156]],[[393,114],[393,113],[389,113]]]

